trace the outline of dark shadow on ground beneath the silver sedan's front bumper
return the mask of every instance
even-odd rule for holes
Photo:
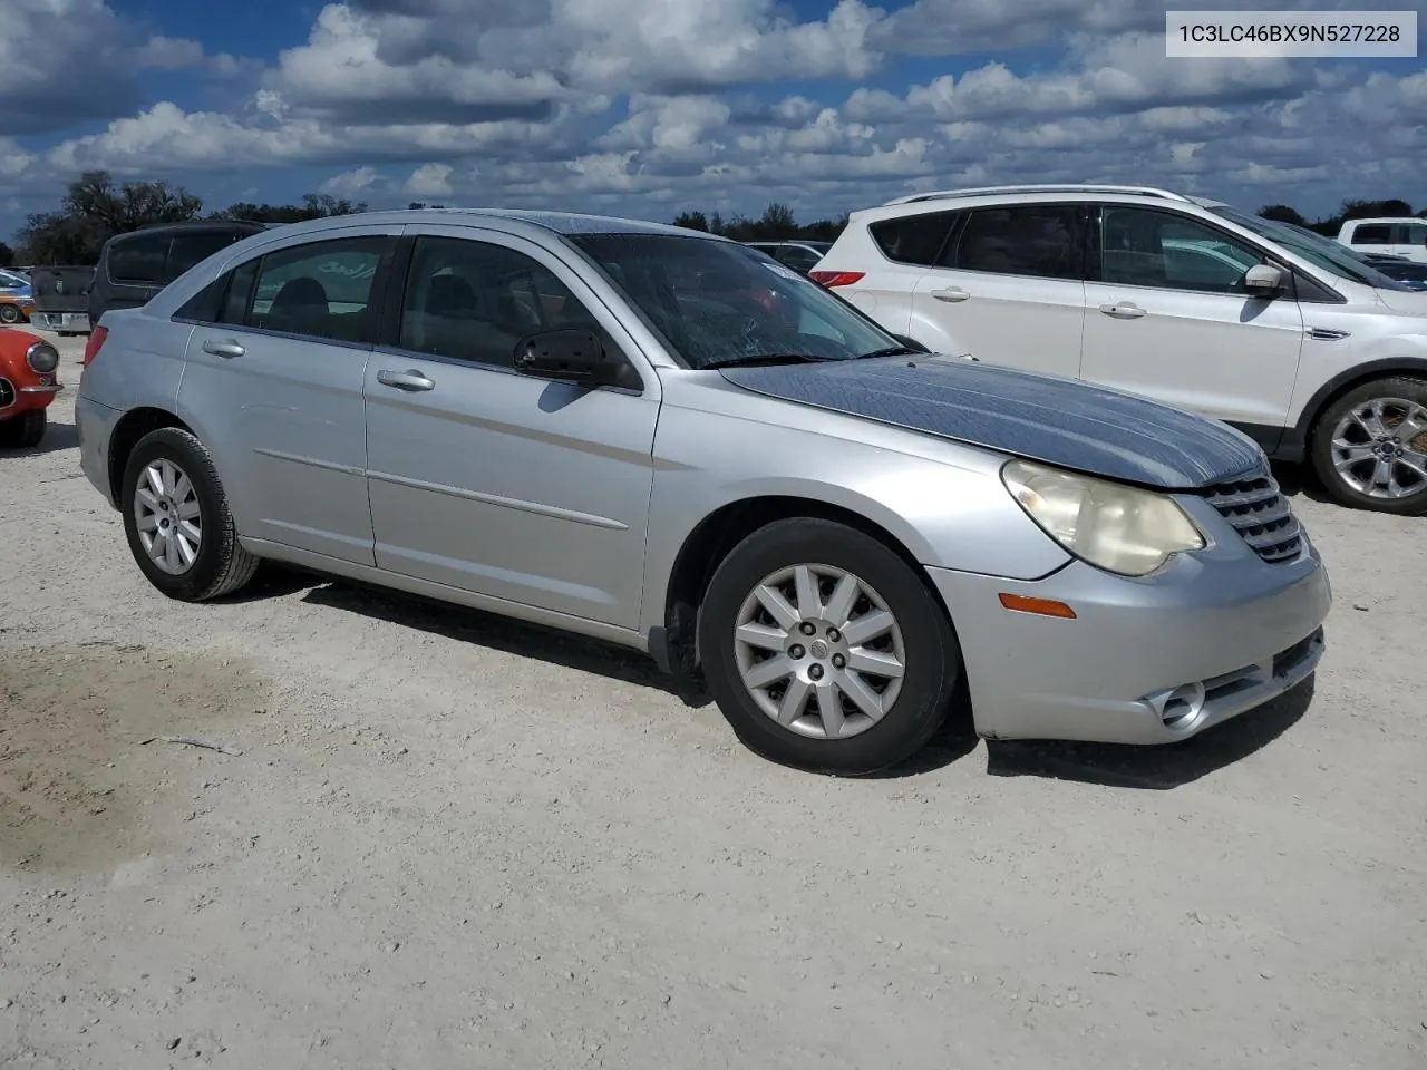
[[[1043,776],[1106,788],[1170,790],[1240,762],[1309,712],[1314,676],[1259,709],[1240,713],[1182,743],[1117,746],[1042,740],[987,740],[990,776]]]

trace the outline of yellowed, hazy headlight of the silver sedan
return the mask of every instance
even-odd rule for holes
[[[1174,554],[1206,545],[1167,495],[1029,461],[1010,461],[1000,477],[1050,538],[1106,572],[1144,576]]]

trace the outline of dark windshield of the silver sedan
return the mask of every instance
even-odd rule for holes
[[[569,240],[691,368],[902,348],[842,298],[746,245],[664,234]]]

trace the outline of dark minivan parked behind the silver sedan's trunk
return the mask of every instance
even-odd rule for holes
[[[221,248],[267,230],[248,220],[158,223],[104,243],[90,285],[90,327],[110,308],[138,308]]]

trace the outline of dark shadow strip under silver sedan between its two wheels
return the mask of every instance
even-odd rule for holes
[[[712,700],[696,683],[684,685],[674,676],[659,672],[654,659],[638,651],[479,609],[274,566],[271,562],[264,562],[253,584],[225,601],[251,602],[298,592],[305,592],[303,601],[311,605],[344,609],[457,642],[538,658],[636,686],[656,688],[691,708],[701,708]]]

